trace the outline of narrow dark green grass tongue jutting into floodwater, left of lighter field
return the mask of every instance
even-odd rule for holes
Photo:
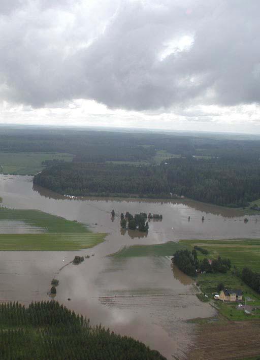
[[[155,245],[133,245],[124,247],[120,251],[112,254],[114,257],[135,257],[135,256],[170,256],[175,251],[184,249],[187,246],[180,242],[168,241],[164,244]]]

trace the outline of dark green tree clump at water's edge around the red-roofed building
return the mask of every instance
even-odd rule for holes
[[[197,273],[226,273],[230,270],[230,259],[218,256],[217,259],[212,261],[209,261],[207,257],[199,260],[197,250],[193,249],[192,251],[189,251],[186,249],[176,251],[172,258],[173,264],[176,265],[183,273],[190,276],[196,275]]]

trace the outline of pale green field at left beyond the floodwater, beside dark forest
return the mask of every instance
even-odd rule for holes
[[[44,160],[72,161],[74,155],[47,152],[0,152],[0,172],[10,175],[35,175],[42,169]]]

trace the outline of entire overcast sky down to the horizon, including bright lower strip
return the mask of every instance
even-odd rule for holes
[[[257,0],[1,0],[0,123],[260,134]]]

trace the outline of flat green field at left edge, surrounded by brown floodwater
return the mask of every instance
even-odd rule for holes
[[[82,223],[38,210],[0,209],[0,220],[22,221],[43,230],[43,233],[39,234],[0,234],[0,251],[80,250],[103,242],[106,236],[106,234],[90,232]],[[22,230],[21,228],[21,233]],[[27,231],[28,226],[24,226],[24,232]]]

